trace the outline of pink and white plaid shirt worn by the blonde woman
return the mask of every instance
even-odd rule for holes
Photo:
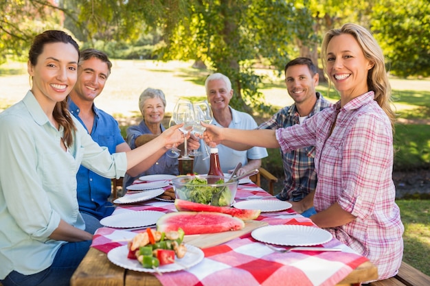
[[[374,92],[343,108],[337,102],[303,124],[279,129],[276,138],[283,152],[315,145],[315,209],[323,211],[338,202],[356,216],[328,230],[372,261],[380,279],[394,276],[403,257],[404,228],[394,202],[392,128]]]

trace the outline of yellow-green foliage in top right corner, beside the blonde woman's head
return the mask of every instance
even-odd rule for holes
[[[394,75],[430,75],[428,0],[378,1],[372,19],[372,31]]]

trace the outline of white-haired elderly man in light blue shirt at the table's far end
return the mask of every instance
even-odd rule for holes
[[[205,81],[207,101],[210,103],[214,114],[212,124],[226,128],[236,129],[255,129],[256,121],[245,112],[234,110],[229,106],[233,90],[231,82],[227,76],[222,73],[214,73],[207,77]],[[200,149],[202,149],[203,142]],[[252,147],[246,151],[233,150],[225,145],[218,145],[218,154],[220,158],[221,169],[224,173],[234,169],[237,163],[242,163],[238,175],[245,174],[251,169],[258,169],[261,165],[261,158],[267,157],[266,148]],[[203,160],[202,156],[194,159],[194,172],[198,174],[207,174],[209,171],[210,160]]]

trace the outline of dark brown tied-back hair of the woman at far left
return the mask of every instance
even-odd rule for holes
[[[46,44],[52,43],[71,44],[73,47],[75,47],[76,51],[78,51],[79,55],[79,45],[75,40],[73,40],[73,38],[71,38],[71,36],[63,31],[47,30],[42,34],[38,34],[34,38],[32,47],[30,47],[30,51],[28,52],[28,60],[30,60],[30,63],[33,66],[36,66],[38,56],[43,53],[43,47],[45,47]],[[76,130],[76,127],[73,123],[73,119],[71,118],[69,110],[67,109],[67,99],[56,103],[54,111],[52,112],[52,116],[60,126],[63,126],[63,141],[66,146],[70,146],[73,143],[73,136],[71,132]]]

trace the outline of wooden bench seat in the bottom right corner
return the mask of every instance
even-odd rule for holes
[[[402,261],[398,274],[392,278],[375,281],[370,286],[425,286],[430,285],[430,276]]]

